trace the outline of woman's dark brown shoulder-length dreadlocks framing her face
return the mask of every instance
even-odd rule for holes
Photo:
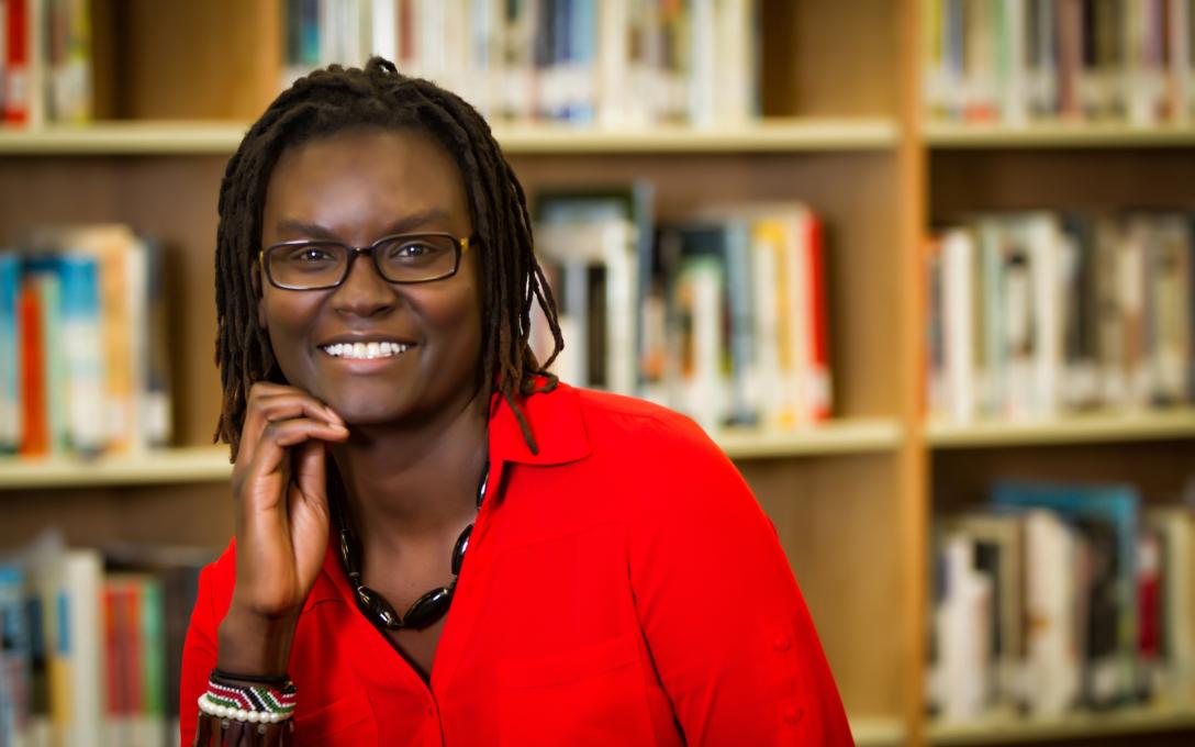
[[[235,459],[250,387],[259,380],[282,381],[257,319],[262,288],[256,262],[270,172],[287,148],[372,127],[425,131],[455,160],[482,245],[480,384],[510,405],[523,440],[538,452],[520,399],[556,387],[546,369],[564,342],[556,301],[532,250],[522,185],[477,110],[427,80],[399,74],[381,57],[363,71],[333,65],[300,78],[270,104],[228,161],[216,229],[216,365],[223,387],[216,440],[228,443]],[[553,339],[543,365],[528,342],[533,302],[544,311]]]

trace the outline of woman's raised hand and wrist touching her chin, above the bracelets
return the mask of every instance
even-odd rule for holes
[[[330,408],[293,386],[249,394],[233,466],[237,584],[220,625],[219,667],[281,674],[329,535],[326,443],[349,431]]]

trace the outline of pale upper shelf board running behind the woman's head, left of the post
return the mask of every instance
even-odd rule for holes
[[[37,130],[0,129],[0,154],[10,155],[231,155],[247,129],[243,122],[97,122]],[[869,151],[896,145],[893,120],[785,118],[731,128],[681,125],[618,130],[562,124],[496,125],[507,153],[736,153]]]

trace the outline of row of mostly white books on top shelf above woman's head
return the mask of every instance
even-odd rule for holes
[[[492,121],[734,124],[759,114],[756,0],[287,0],[286,78],[370,54]]]

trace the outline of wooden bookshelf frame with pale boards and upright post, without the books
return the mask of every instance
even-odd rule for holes
[[[0,130],[5,233],[117,220],[163,239],[172,384],[186,392],[174,403],[176,449],[99,463],[0,461],[0,546],[47,523],[88,545],[222,545],[231,535],[229,467],[210,447],[215,197],[227,155],[277,85],[277,4],[129,0],[115,13],[114,0],[99,1],[97,78],[106,84],[97,88],[98,122]],[[1177,711],[964,727],[924,714],[932,512],[1009,472],[1170,490],[1189,471],[1181,465],[1195,442],[1195,410],[925,422],[923,239],[934,220],[968,210],[1195,207],[1195,129],[925,122],[921,7],[761,0],[758,124],[495,131],[528,192],[643,176],[666,221],[709,202],[777,198],[804,200],[825,218],[836,417],[805,431],[716,437],[777,527],[859,745],[1095,735],[1129,745],[1195,729]]]

